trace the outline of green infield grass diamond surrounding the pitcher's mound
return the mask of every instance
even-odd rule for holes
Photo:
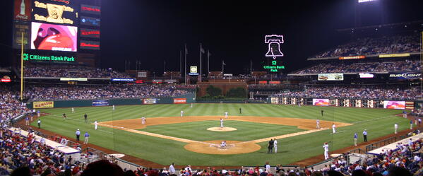
[[[217,139],[222,141],[251,141],[254,139],[263,139],[266,137],[304,131],[303,129],[286,125],[241,122],[230,119],[224,119],[223,125],[225,127],[236,128],[237,130],[226,132],[206,130],[210,127],[220,127],[219,120],[160,124],[148,126],[140,130],[166,136],[191,139],[194,141],[215,141]],[[193,131],[195,131],[195,134],[192,134]]]

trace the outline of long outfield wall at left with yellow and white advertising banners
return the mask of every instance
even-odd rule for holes
[[[54,100],[54,101],[31,101],[28,108],[52,108],[52,107],[90,107],[111,105],[151,105],[151,104],[185,104],[196,102],[195,94],[189,93],[166,98],[128,98],[128,99],[96,99],[96,100]]]

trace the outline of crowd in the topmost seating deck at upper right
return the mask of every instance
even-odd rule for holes
[[[420,52],[419,35],[392,35],[364,37],[339,45],[312,58],[348,57],[374,54],[395,54]]]

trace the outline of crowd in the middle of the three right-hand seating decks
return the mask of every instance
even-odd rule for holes
[[[385,62],[333,62],[322,63],[293,74],[329,74],[329,73],[375,73],[389,71],[420,71],[419,60],[385,61]]]

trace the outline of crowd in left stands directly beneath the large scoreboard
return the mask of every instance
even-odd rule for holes
[[[25,66],[24,75],[55,78],[131,78],[119,71],[81,65],[28,64]]]

